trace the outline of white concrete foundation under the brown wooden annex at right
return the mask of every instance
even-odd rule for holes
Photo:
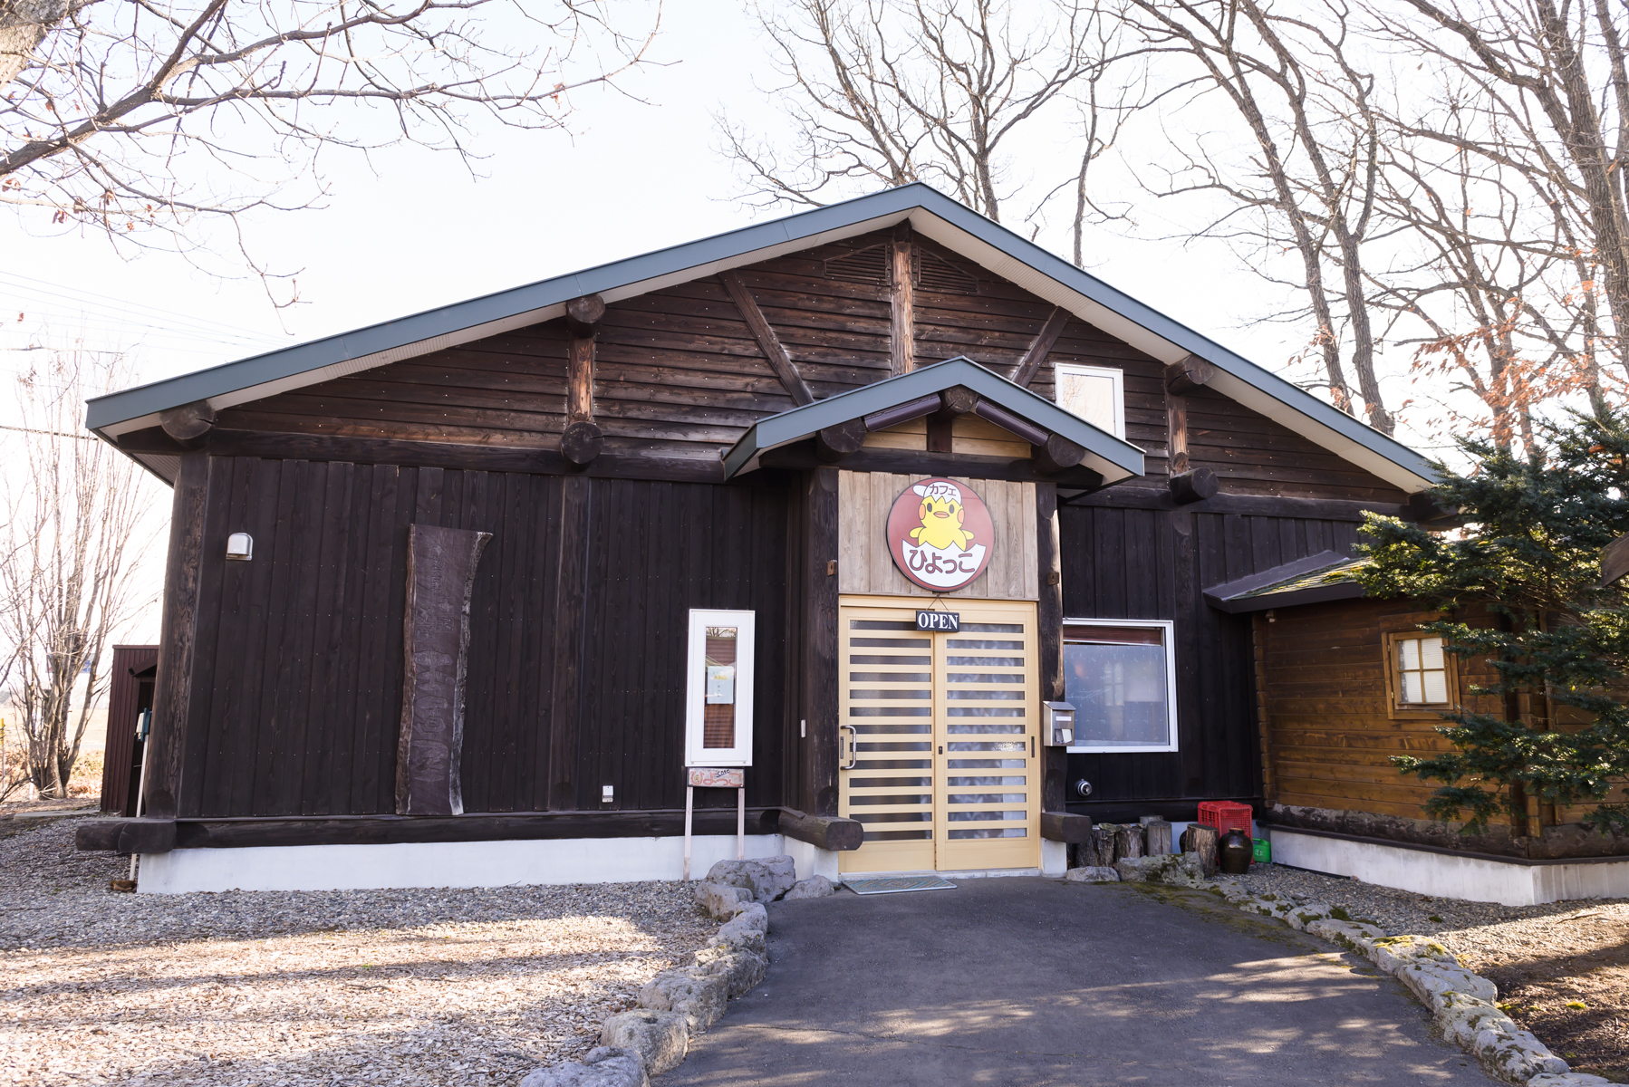
[[[1300,834],[1274,826],[1272,859],[1297,869],[1350,875],[1434,898],[1536,906],[1572,898],[1629,898],[1629,859],[1495,860],[1368,841]]]

